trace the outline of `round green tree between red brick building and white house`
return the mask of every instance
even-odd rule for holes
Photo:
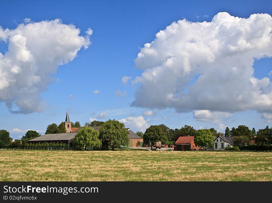
[[[199,129],[193,138],[196,146],[206,147],[212,146],[214,137],[212,136],[209,129]],[[204,148],[203,148],[204,149]]]

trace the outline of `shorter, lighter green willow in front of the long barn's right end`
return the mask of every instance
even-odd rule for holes
[[[91,127],[84,126],[74,136],[74,145],[81,150],[85,147],[101,148],[102,143],[98,138],[99,132]]]

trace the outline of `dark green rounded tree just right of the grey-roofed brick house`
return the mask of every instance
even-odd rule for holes
[[[143,135],[143,141],[146,144],[149,144],[149,140],[153,145],[154,142],[165,142],[167,140],[167,137],[165,136],[159,125],[151,125],[149,128],[146,129],[146,132]]]

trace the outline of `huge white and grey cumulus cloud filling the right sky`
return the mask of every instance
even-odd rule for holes
[[[133,81],[140,86],[132,106],[197,111],[196,117],[209,111],[208,120],[246,109],[272,113],[271,81],[255,78],[253,69],[254,60],[272,56],[271,30],[268,14],[173,22],[134,60],[144,71]]]

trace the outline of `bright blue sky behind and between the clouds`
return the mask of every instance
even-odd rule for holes
[[[263,112],[254,109],[233,111],[232,116],[220,121],[200,121],[193,117],[192,111],[175,113],[172,106],[131,106],[140,86],[131,81],[143,73],[135,68],[134,59],[145,43],[155,39],[157,32],[184,18],[191,22],[210,22],[219,12],[240,18],[249,18],[254,13],[272,15],[271,1],[2,1],[1,7],[3,29],[15,29],[29,18],[32,22],[61,19],[63,24],[79,28],[80,36],[84,36],[88,28],[93,30],[89,48],[80,49],[74,60],[59,66],[51,75],[53,82],[41,91],[41,100],[46,102],[42,112],[11,113],[5,101],[0,100],[0,129],[8,130],[13,138],[20,138],[28,129],[43,134],[48,124],[64,121],[67,108],[70,120],[81,124],[89,119],[138,117],[151,110],[155,114],[143,116],[144,126],[162,123],[173,129],[192,125],[196,129],[214,127],[224,131],[226,126],[247,125],[257,130],[271,125],[270,120],[261,118]],[[7,49],[8,43],[0,41],[0,52],[4,55]],[[271,64],[271,58],[256,60],[254,76],[268,77]],[[131,79],[123,83],[123,76]],[[95,90],[99,93],[95,94]],[[117,90],[121,92],[119,96]],[[148,95],[146,97],[148,99]],[[100,113],[108,116],[99,118]],[[134,123],[131,125],[126,127],[135,132],[141,129]]]

